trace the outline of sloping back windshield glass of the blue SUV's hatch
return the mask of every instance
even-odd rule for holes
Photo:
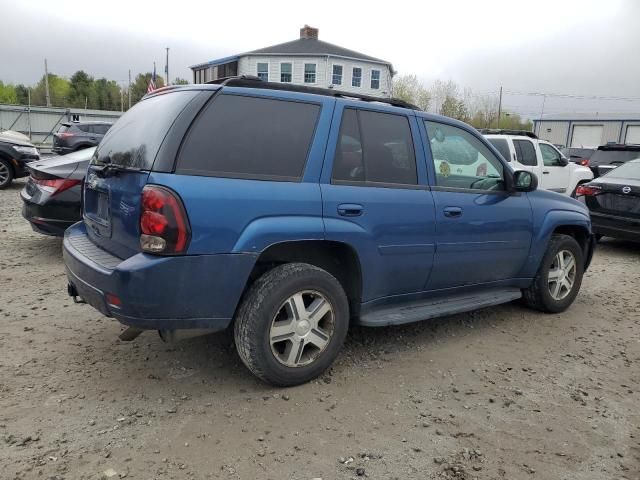
[[[150,170],[167,131],[197,94],[183,90],[138,102],[109,129],[92,163]]]

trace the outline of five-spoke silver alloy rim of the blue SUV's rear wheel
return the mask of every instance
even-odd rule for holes
[[[329,345],[334,327],[334,309],[323,294],[313,290],[295,293],[271,322],[271,352],[287,367],[308,365]]]

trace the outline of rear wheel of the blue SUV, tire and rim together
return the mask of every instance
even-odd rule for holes
[[[288,263],[260,277],[236,314],[236,349],[247,368],[276,386],[305,383],[338,356],[349,327],[340,282],[313,265]]]

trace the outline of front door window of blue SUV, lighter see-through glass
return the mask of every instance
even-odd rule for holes
[[[424,122],[439,187],[504,190],[504,165],[480,140],[458,127]]]

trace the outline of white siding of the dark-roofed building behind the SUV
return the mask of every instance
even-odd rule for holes
[[[334,85],[333,88],[345,92],[372,95],[376,97],[389,97],[391,91],[391,72],[388,65],[379,63],[349,60],[339,57],[325,56],[286,56],[286,55],[245,55],[238,61],[239,75],[257,75],[258,63],[269,64],[269,81],[280,81],[280,64],[291,63],[293,65],[293,81],[297,85],[328,88],[332,81],[333,64],[342,65],[342,85]],[[316,64],[316,83],[304,83],[304,64]],[[351,86],[351,76],[354,67],[362,68],[361,87]],[[380,88],[371,88],[371,70],[380,71]]]

